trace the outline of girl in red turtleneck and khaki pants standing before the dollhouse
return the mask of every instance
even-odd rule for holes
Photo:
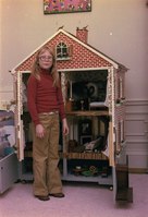
[[[55,58],[41,48],[27,83],[28,110],[33,120],[34,195],[41,201],[63,197],[59,162],[59,117],[63,134],[69,133]]]

